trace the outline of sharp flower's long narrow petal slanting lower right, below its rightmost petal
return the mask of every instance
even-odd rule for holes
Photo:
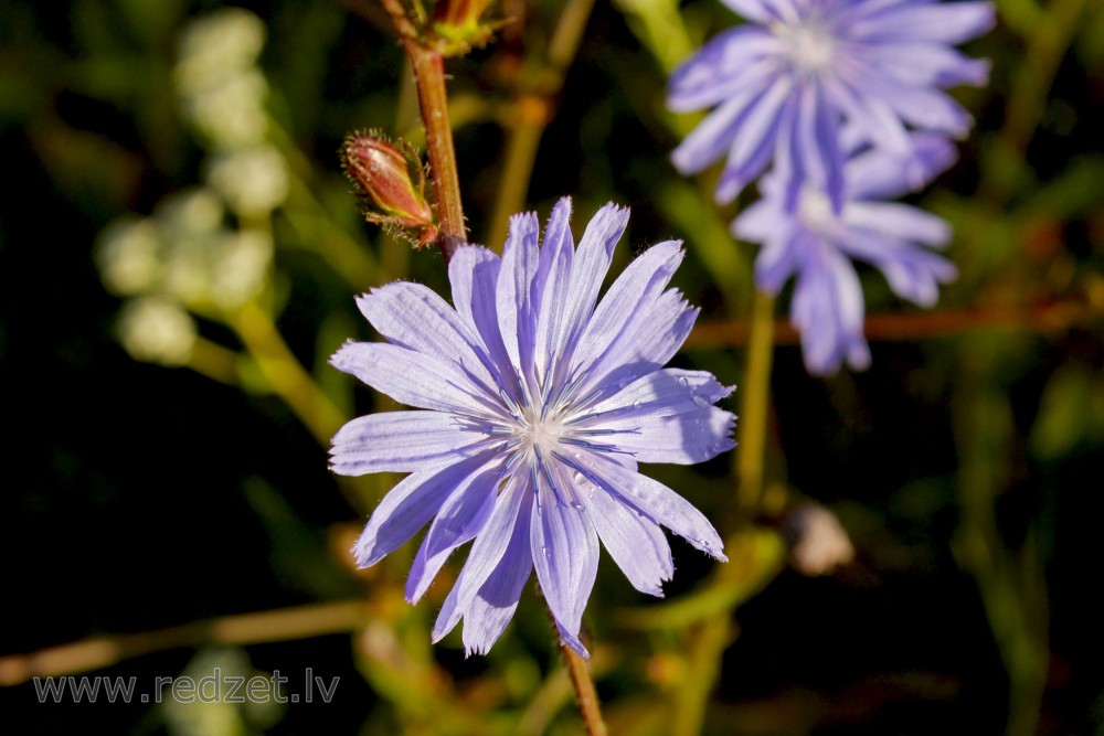
[[[709,520],[692,503],[647,476],[627,470],[594,452],[580,452],[573,467],[601,489],[624,499],[654,522],[671,530],[702,552],[728,562],[724,543]]]

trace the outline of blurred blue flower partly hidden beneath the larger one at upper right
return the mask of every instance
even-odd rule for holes
[[[941,136],[913,134],[911,139],[906,159],[875,148],[847,162],[839,213],[813,184],[788,211],[785,186],[771,174],[760,184],[763,199],[732,223],[734,235],[764,246],[755,260],[760,288],[777,294],[796,276],[790,321],[802,333],[810,373],[835,373],[845,361],[857,370],[870,364],[862,287],[850,259],[874,266],[898,296],[924,307],[935,303],[941,282],[957,275],[951,262],[922,247],[948,242],[944,220],[880,201],[911,191],[917,178],[931,180],[955,159],[954,147]]]

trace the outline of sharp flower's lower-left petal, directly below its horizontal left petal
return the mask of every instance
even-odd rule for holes
[[[369,567],[391,554],[425,526],[457,483],[492,459],[481,455],[445,468],[420,470],[404,478],[372,512],[352,553]]]

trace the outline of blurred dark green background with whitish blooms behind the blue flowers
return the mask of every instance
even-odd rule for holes
[[[862,271],[864,373],[810,377],[779,321],[753,518],[731,457],[649,469],[732,562],[673,541],[660,601],[604,557],[584,626],[612,733],[1104,733],[1104,7],[997,7],[965,49],[990,85],[954,90],[976,129],[912,198],[954,224],[958,281],[922,312]],[[630,205],[613,273],[686,239],[676,285],[703,311],[676,364],[742,386],[755,250],[726,228],[754,191],[718,210],[715,172],[678,177],[696,118],[664,106],[668,71],[735,17],[492,13],[497,41],[448,63],[471,239],[500,248],[509,214],[564,194],[576,235]],[[337,150],[362,128],[424,146],[368,0],[0,4],[0,730],[578,733],[532,585],[465,659],[456,633],[429,646],[458,561],[411,607],[414,544],[369,570],[348,555],[396,478],[330,474],[328,440],[393,406],[326,360],[374,339],[354,295],[447,295],[436,250],[360,217]],[[339,684],[153,702],[155,678],[215,670]],[[137,678],[149,702],[40,704],[31,679],[68,674]]]

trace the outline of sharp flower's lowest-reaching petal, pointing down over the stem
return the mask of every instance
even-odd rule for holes
[[[571,489],[558,491],[574,494]],[[529,529],[537,579],[564,643],[590,658],[578,630],[598,570],[598,535],[581,504],[576,509],[561,501],[543,483],[538,494]]]

